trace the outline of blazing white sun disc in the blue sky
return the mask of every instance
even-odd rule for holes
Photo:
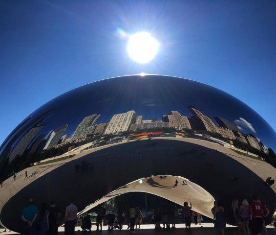
[[[127,52],[130,58],[138,63],[148,63],[157,54],[158,41],[148,32],[138,32],[129,36]]]

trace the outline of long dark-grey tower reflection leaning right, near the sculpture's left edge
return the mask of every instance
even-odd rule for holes
[[[29,144],[33,141],[35,136],[44,128],[44,126],[36,126],[30,129],[21,140],[15,145],[12,152],[9,155],[9,161],[12,161],[15,156],[21,155]]]

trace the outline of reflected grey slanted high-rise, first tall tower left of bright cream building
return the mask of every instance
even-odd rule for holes
[[[100,114],[93,114],[91,116],[85,117],[76,128],[71,137],[71,140],[79,138],[81,136],[91,135],[95,128],[95,122],[100,118],[100,116]]]

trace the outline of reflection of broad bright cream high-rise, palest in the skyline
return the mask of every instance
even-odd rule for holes
[[[129,130],[132,123],[135,122],[135,111],[131,110],[123,114],[115,114],[106,127],[105,134],[117,134]]]

